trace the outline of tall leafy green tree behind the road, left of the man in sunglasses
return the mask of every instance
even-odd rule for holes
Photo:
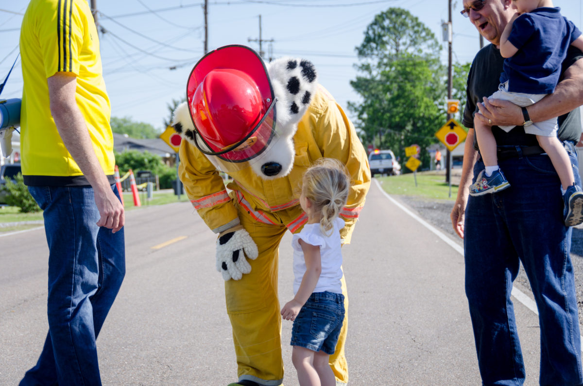
[[[433,32],[408,10],[389,8],[374,17],[356,47],[359,75],[350,82],[362,99],[349,102],[349,109],[363,142],[392,149],[404,159],[407,146],[424,149],[438,141],[434,134],[445,124],[447,96],[440,50]],[[465,94],[465,78],[463,85]],[[420,160],[429,166],[427,152]]]

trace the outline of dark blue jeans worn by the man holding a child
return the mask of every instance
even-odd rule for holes
[[[568,142],[575,182],[577,155]],[[539,310],[540,384],[583,383],[571,228],[547,155],[499,162],[510,188],[470,196],[465,211],[465,288],[484,385],[522,385],[524,362],[510,299],[522,262]],[[484,169],[474,166],[474,181]]]

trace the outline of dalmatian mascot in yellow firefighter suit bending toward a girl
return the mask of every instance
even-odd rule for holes
[[[298,201],[301,178],[321,157],[346,165],[352,187],[340,236],[349,243],[370,186],[366,152],[342,108],[318,85],[310,61],[266,64],[244,45],[218,48],[198,61],[173,126],[186,140],[180,179],[218,234],[216,269],[225,280],[238,366],[231,385],[280,385],[278,247],[286,231],[297,233],[307,222]],[[233,178],[227,186],[219,171]],[[344,281],[343,293],[347,299]],[[346,322],[331,356],[338,384],[348,381]]]

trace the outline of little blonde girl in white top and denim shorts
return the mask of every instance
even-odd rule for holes
[[[308,215],[293,235],[294,298],[282,308],[293,321],[291,360],[301,386],[336,384],[328,362],[342,321],[342,252],[338,215],[346,205],[350,177],[340,161],[321,158],[305,171],[300,205]]]

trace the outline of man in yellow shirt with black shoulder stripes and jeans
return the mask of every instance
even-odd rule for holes
[[[22,174],[49,248],[48,335],[20,385],[100,385],[96,338],[125,275],[125,220],[87,2],[31,0],[20,55]]]

